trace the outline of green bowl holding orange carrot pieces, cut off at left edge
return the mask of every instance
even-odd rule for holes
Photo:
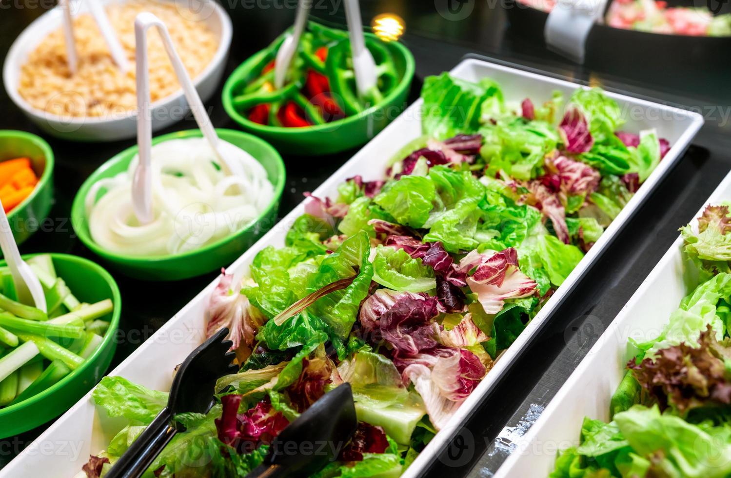
[[[48,217],[53,199],[53,151],[42,138],[22,131],[0,131],[0,162],[27,156],[38,176],[36,188],[7,215],[15,242],[36,232]],[[0,253],[2,257],[2,253]]]

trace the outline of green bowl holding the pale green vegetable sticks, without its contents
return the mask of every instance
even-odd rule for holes
[[[28,254],[24,259],[38,254]],[[116,282],[101,266],[83,257],[50,253],[58,277],[66,281],[69,289],[81,301],[87,303],[111,299],[114,309],[103,320],[109,321],[102,345],[86,362],[69,373],[61,381],[15,405],[0,409],[0,439],[23,433],[43,425],[67,411],[91,390],[104,376],[117,348],[115,335],[119,327],[121,296]],[[4,261],[0,265],[5,265]]]

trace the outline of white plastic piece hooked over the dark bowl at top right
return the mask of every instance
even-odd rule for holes
[[[548,48],[583,63],[586,38],[601,21],[606,5],[607,0],[558,0],[543,31]]]

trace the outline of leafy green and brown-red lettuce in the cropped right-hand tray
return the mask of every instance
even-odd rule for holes
[[[551,478],[731,477],[731,216],[709,205],[681,228],[700,281],[635,355],[610,402],[611,421],[586,417],[581,444]]]

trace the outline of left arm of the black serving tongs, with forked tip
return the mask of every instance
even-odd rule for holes
[[[167,406],[157,414],[145,431],[124,452],[105,478],[137,478],[147,470],[181,425],[173,417],[186,411],[208,413],[213,406],[216,380],[236,373],[235,354],[228,352],[231,341],[224,341],[229,330],[223,328],[190,354],[175,374]]]

